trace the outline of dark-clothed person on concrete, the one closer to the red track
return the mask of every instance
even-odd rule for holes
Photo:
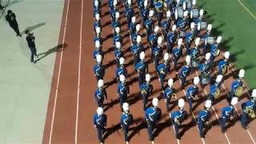
[[[35,48],[35,44],[34,44],[34,39],[35,39],[34,35],[33,35],[33,33],[30,33],[29,30],[26,30],[25,33],[27,34],[26,42],[27,42],[27,45],[29,46],[30,52],[31,52],[30,62],[36,63],[37,61],[34,61],[34,56],[38,57],[38,54],[37,54],[37,49]]]

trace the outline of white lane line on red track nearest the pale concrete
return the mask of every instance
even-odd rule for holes
[[[70,0],[67,0],[66,20],[65,20],[64,32],[63,32],[63,38],[62,38],[62,52],[61,52],[61,59],[59,61],[59,65],[58,65],[58,79],[57,79],[57,86],[55,89],[54,110],[53,110],[52,120],[51,120],[51,124],[50,124],[49,144],[51,143],[51,138],[52,138],[53,129],[54,129],[55,110],[56,110],[56,104],[57,104],[57,98],[58,98],[58,86],[59,86],[59,79],[60,79],[60,75],[61,75],[61,71],[62,71],[63,49],[64,49],[64,43],[65,43],[65,38],[66,38],[66,25],[67,25],[67,18],[68,18],[69,10],[70,10]]]

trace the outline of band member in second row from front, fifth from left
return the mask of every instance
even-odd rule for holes
[[[195,99],[196,95],[198,94],[198,83],[200,82],[200,78],[195,77],[193,81],[193,85],[190,86],[186,90],[186,98],[189,101],[190,104],[190,111],[193,110],[193,100]]]

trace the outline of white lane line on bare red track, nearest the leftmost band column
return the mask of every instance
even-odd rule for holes
[[[75,135],[74,143],[78,143],[78,114],[79,114],[79,98],[80,98],[80,82],[81,82],[81,58],[82,58],[82,21],[83,21],[83,0],[81,4],[80,18],[80,42],[79,42],[79,62],[78,62],[78,95],[77,95],[77,112],[75,118]]]

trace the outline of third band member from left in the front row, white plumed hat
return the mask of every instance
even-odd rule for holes
[[[158,98],[153,98],[151,107],[147,108],[145,111],[147,131],[149,134],[149,140],[154,141],[154,127],[156,122],[161,118],[162,111],[158,108]]]

